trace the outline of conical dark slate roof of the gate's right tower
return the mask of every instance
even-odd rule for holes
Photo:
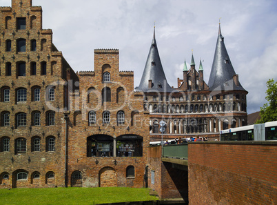
[[[220,24],[218,29],[218,39],[211,74],[209,75],[209,90],[245,90],[238,83],[233,81],[236,72],[225,48],[224,37],[221,35]]]

